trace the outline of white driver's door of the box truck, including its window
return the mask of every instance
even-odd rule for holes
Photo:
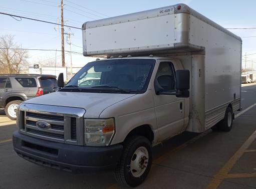
[[[155,75],[164,92],[175,92],[175,69],[172,62],[162,61]],[[184,126],[184,98],[175,95],[153,94],[159,140],[181,132]]]

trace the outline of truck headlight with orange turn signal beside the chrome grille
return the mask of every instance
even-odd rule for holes
[[[115,121],[108,119],[85,119],[85,145],[108,146],[115,132]]]

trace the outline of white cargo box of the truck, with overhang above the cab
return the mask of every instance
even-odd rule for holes
[[[223,119],[228,103],[240,108],[241,38],[185,4],[83,24],[85,56],[175,57],[190,70],[188,131]]]

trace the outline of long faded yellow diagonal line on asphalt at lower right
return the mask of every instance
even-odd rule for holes
[[[228,177],[228,172],[232,169],[234,164],[244,152],[249,148],[251,143],[256,139],[256,130],[249,136],[249,138],[243,143],[243,145],[236,151],[236,153],[227,161],[227,163],[219,170],[214,176],[206,189],[217,189],[220,183]],[[231,175],[231,174],[230,174]]]

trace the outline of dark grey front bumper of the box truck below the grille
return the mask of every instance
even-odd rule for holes
[[[76,146],[33,138],[18,131],[13,134],[13,146],[19,156],[30,162],[73,173],[112,169],[123,151],[122,145]]]

